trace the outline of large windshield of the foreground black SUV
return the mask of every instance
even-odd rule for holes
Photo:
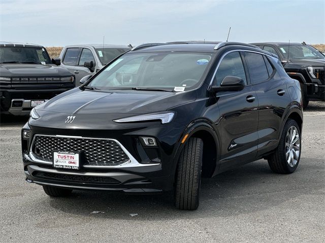
[[[94,77],[88,87],[184,91],[201,83],[211,57],[211,53],[125,54]]]

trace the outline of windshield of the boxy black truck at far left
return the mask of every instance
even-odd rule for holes
[[[0,63],[49,64],[50,57],[41,47],[0,47]]]

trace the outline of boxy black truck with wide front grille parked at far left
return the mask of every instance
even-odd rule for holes
[[[1,114],[28,115],[30,110],[73,89],[75,76],[57,67],[43,46],[0,42]]]

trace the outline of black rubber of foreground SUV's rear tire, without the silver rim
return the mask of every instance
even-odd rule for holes
[[[285,154],[285,143],[286,143],[286,135],[292,126],[295,126],[298,133],[299,133],[299,147],[300,147],[300,153],[297,159],[297,164],[295,166],[290,166],[287,162],[286,154]],[[299,160],[300,160],[300,155],[301,155],[301,133],[298,124],[296,123],[295,120],[293,119],[288,119],[284,125],[281,138],[279,141],[278,147],[275,149],[275,152],[271,154],[268,158],[268,163],[271,168],[271,170],[275,173],[279,174],[290,174],[293,173],[298,165],[299,165]]]

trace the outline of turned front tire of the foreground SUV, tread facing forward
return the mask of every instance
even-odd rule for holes
[[[189,138],[178,160],[175,185],[175,207],[196,210],[200,201],[203,141]]]

